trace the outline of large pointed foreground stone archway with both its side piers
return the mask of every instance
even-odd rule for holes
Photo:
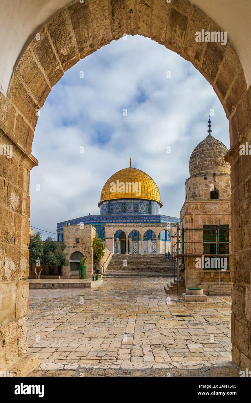
[[[185,0],[88,0],[67,6],[33,39],[13,73],[7,97],[0,93],[1,143],[13,146],[13,158],[1,156],[0,189],[2,294],[0,368],[27,353],[29,170],[37,165],[31,144],[39,110],[64,71],[124,34],[151,37],[189,60],[218,95],[230,128],[232,268],[232,357],[251,368],[251,273],[249,218],[251,164],[239,156],[239,144],[251,141],[251,89],[230,40],[195,42],[202,29],[221,31],[202,10]],[[35,35],[34,35],[35,36]],[[249,214],[249,216],[247,216]],[[4,347],[3,347],[4,346]]]

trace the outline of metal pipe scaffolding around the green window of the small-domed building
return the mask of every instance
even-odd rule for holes
[[[209,257],[209,258],[227,258],[228,259],[228,266],[229,266],[229,258],[231,256],[230,250],[231,250],[231,237],[230,237],[230,226],[228,225],[223,225],[223,224],[218,224],[218,225],[209,225],[209,226],[203,226],[199,228],[195,227],[183,227],[183,226],[178,226],[176,223],[174,225],[171,225],[171,239],[172,239],[172,257],[173,257],[173,281],[175,280],[175,265],[177,266],[176,269],[176,278],[177,278],[177,292],[179,291],[179,280],[180,280],[180,268],[184,265],[184,268],[187,267],[188,270],[188,259],[190,257],[194,258],[199,258],[201,256],[204,257]],[[210,234],[209,236],[206,236],[204,240],[204,231],[214,231],[215,230],[215,241],[214,239],[210,240]],[[188,233],[189,231],[195,231],[193,235],[193,239],[195,238],[196,231],[201,231],[202,232],[202,240],[199,242],[196,241],[190,241]],[[223,239],[220,239],[220,231],[227,231],[228,237],[227,240],[224,241]],[[181,240],[180,240],[181,238]],[[185,240],[186,238],[186,240]],[[223,237],[222,237],[223,238]],[[201,251],[196,251],[195,246],[196,245],[201,245]],[[180,247],[181,245],[181,247]],[[189,247],[193,245],[193,247]],[[208,245],[208,248],[206,247]],[[227,252],[225,251],[224,245],[226,246]],[[181,249],[182,248],[182,249]],[[181,250],[180,250],[181,249]],[[189,249],[193,249],[193,251],[189,251]],[[214,249],[215,253],[207,253],[205,252],[205,249]],[[225,253],[221,253],[221,252]],[[182,260],[180,264],[180,259]],[[187,265],[186,265],[187,263]],[[229,267],[228,267],[229,268]],[[218,272],[219,272],[219,285],[220,285],[220,267],[217,267]],[[189,272],[187,271],[187,276],[189,278]]]

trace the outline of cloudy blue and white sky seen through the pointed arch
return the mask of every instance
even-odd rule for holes
[[[157,183],[162,214],[179,217],[189,158],[207,136],[211,109],[212,135],[229,148],[222,105],[190,62],[138,35],[87,56],[64,73],[41,108],[31,226],[55,233],[57,222],[99,214],[104,183],[129,166],[130,155],[132,166]]]

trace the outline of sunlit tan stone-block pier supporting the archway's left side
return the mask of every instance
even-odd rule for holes
[[[12,141],[0,130],[0,144]],[[34,160],[12,144],[0,155],[0,368],[27,353],[29,284],[29,172]]]

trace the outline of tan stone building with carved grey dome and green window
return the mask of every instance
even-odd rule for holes
[[[178,253],[186,288],[199,285],[206,293],[230,294],[230,165],[224,160],[226,146],[211,135],[210,118],[208,127],[189,161]]]

